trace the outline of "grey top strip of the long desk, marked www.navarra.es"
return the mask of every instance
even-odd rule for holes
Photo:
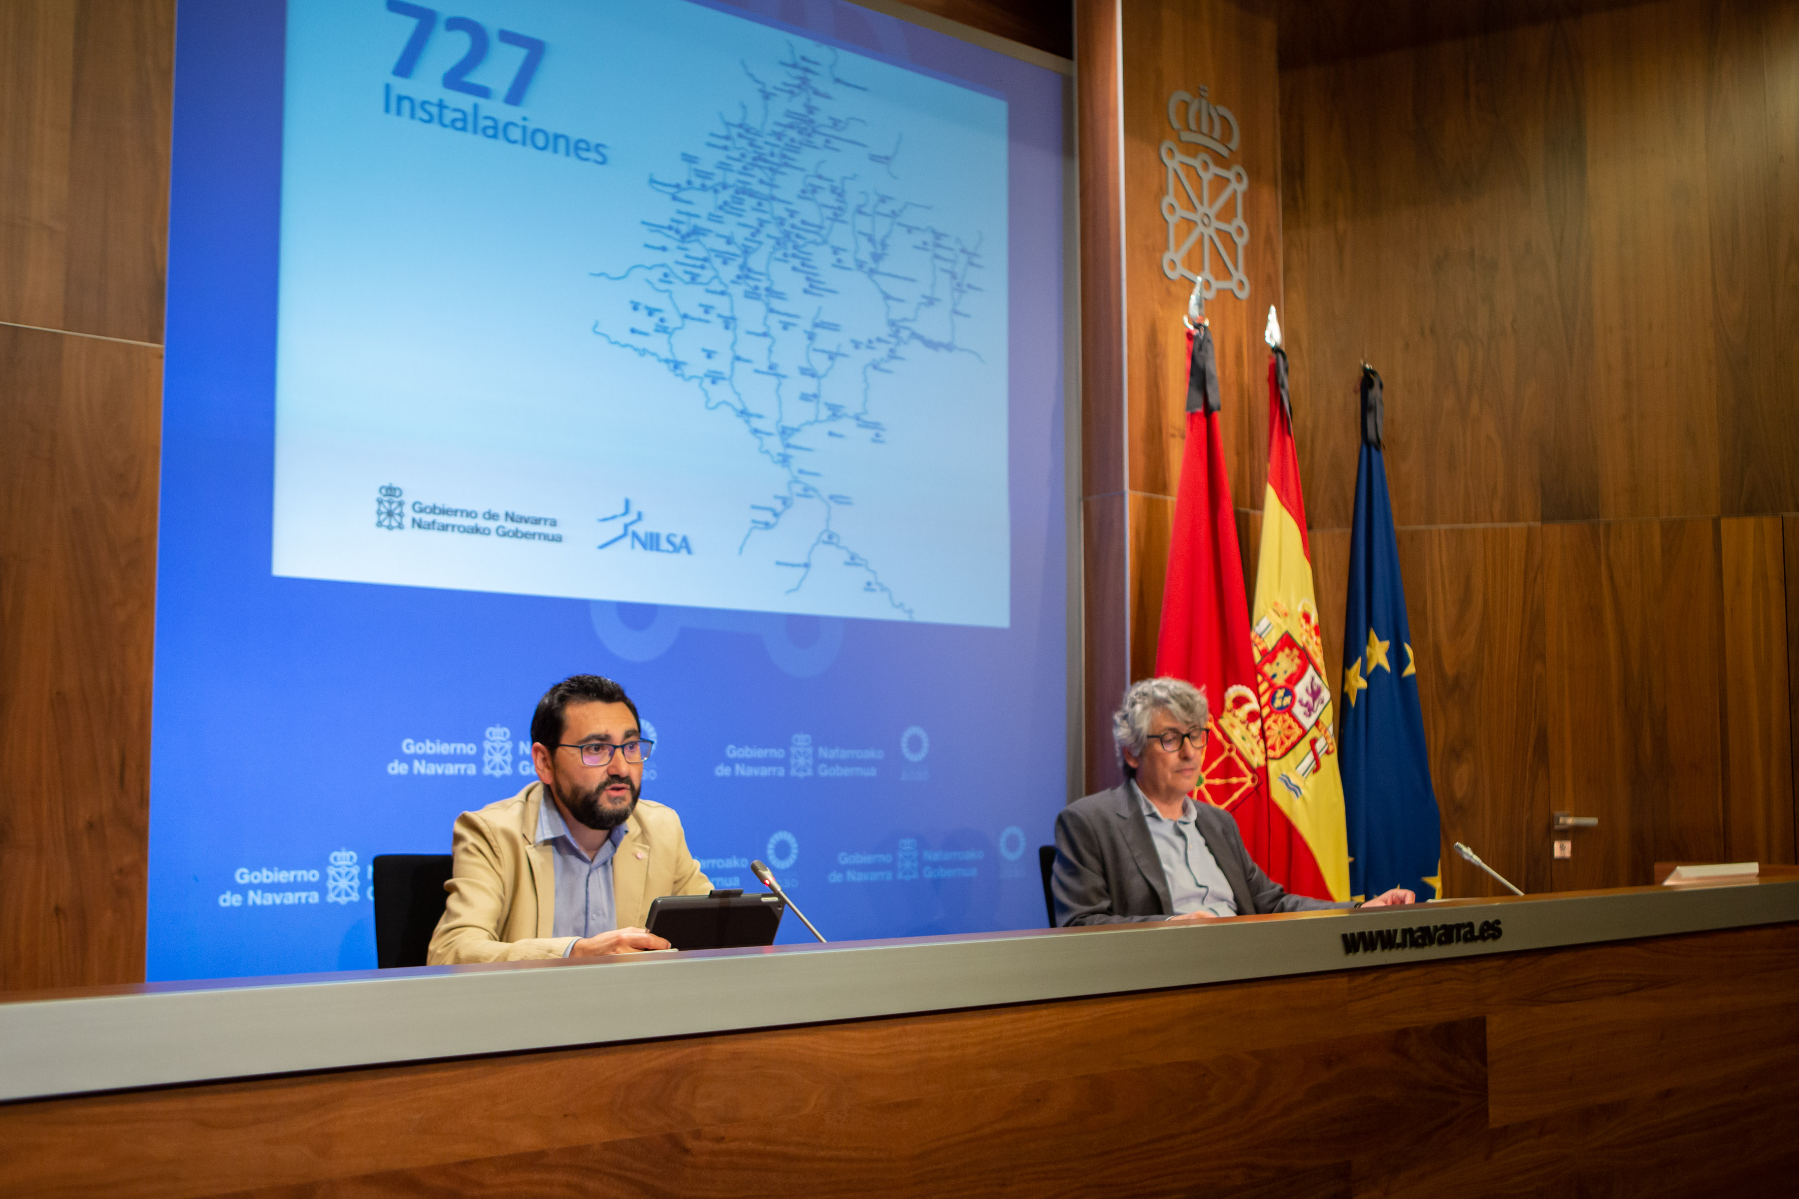
[[[1799,877],[1412,908],[0,996],[0,1102],[905,1016],[1799,920]],[[595,1019],[604,1012],[604,1019]]]

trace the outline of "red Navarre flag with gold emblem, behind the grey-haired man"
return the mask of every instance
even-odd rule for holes
[[[1213,735],[1196,800],[1229,811],[1243,830],[1250,857],[1268,868],[1270,847],[1292,836],[1286,818],[1268,802],[1266,750],[1256,656],[1243,597],[1243,555],[1238,552],[1231,476],[1218,433],[1218,369],[1207,325],[1187,331],[1187,449],[1175,496],[1175,534],[1168,546],[1168,590],[1162,593],[1162,636],[1155,672],[1184,678],[1205,690]],[[1275,883],[1286,879],[1270,872]]]

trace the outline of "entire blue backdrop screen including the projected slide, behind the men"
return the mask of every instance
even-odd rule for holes
[[[149,978],[372,967],[572,672],[716,884],[1042,926],[1065,90],[837,0],[182,0]]]

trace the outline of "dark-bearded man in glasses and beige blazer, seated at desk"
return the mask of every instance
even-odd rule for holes
[[[577,674],[538,703],[531,741],[538,782],[457,816],[428,962],[667,949],[642,929],[649,902],[705,895],[712,883],[680,816],[639,798],[651,742],[637,705],[612,679]]]

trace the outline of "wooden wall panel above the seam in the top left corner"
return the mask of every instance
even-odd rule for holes
[[[0,7],[0,322],[162,342],[175,0]]]

